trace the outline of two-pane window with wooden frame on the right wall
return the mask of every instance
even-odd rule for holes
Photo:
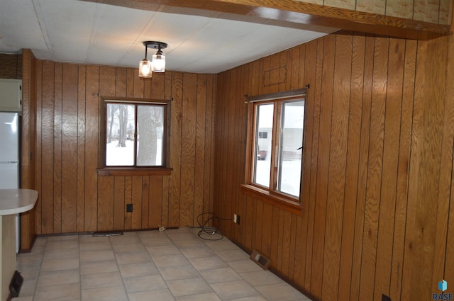
[[[246,184],[261,198],[300,205],[306,90],[249,98]],[[264,196],[265,195],[265,196]],[[257,195],[256,195],[257,196]]]

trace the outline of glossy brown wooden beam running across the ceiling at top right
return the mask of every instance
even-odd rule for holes
[[[216,11],[297,24],[318,25],[361,33],[389,35],[396,38],[429,40],[449,35],[450,25],[440,25],[405,18],[363,13],[344,8],[321,6],[294,0],[85,0],[148,11],[161,6],[191,8],[193,11]],[[189,10],[190,11],[190,10]],[[190,13],[190,12],[188,12]]]

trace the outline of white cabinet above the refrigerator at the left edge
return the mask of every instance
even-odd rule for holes
[[[22,112],[21,79],[0,79],[0,111]]]

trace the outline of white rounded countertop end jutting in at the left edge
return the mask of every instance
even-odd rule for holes
[[[38,200],[38,191],[0,189],[0,215],[15,215],[31,210]]]

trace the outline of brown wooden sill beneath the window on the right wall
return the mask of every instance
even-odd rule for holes
[[[246,195],[250,195],[253,198],[258,198],[265,203],[269,203],[282,208],[283,210],[292,212],[296,215],[303,214],[303,208],[300,203],[284,198],[281,195],[270,193],[269,191],[265,191],[264,189],[260,189],[249,184],[241,184],[241,192]]]

